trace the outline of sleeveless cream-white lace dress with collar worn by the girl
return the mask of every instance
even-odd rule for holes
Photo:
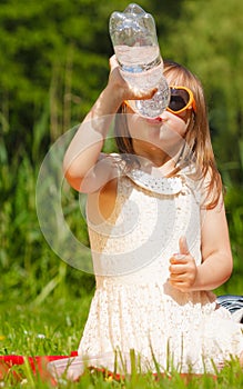
[[[112,369],[115,355],[126,363],[131,350],[142,371],[214,372],[243,350],[241,325],[217,308],[212,292],[181,292],[168,281],[181,236],[201,263],[206,211],[190,177],[185,169],[174,178],[121,174],[112,216],[99,226],[89,221],[97,289],[74,376],[82,358]]]

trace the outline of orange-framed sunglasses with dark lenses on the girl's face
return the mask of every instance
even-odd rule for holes
[[[135,100],[125,100],[126,106],[130,106],[135,111]],[[196,104],[191,89],[186,87],[170,86],[170,102],[166,108],[172,113],[182,113],[192,107],[196,112]]]

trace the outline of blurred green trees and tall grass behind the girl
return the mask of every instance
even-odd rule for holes
[[[217,293],[243,295],[243,2],[138,3],[155,19],[163,58],[189,67],[204,86],[234,256],[233,276]],[[1,307],[37,307],[50,297],[79,299],[93,290],[92,275],[68,266],[47,243],[36,184],[51,144],[82,120],[105,86],[113,53],[109,18],[128,4],[1,0]],[[65,190],[62,203],[70,229],[88,247],[77,193]]]

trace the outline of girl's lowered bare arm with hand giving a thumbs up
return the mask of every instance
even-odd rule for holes
[[[202,226],[202,263],[196,267],[184,238],[180,240],[180,251],[181,259],[170,259],[170,282],[181,291],[212,290],[230,278],[233,260],[222,198],[206,211]]]

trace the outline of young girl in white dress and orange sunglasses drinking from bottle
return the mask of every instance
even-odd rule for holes
[[[136,113],[113,56],[110,77],[64,158],[88,193],[97,289],[79,356],[111,367],[133,350],[142,370],[214,371],[242,360],[241,325],[211,292],[232,272],[222,183],[200,81],[165,61],[171,89],[158,118]],[[113,123],[119,153],[102,147]]]

